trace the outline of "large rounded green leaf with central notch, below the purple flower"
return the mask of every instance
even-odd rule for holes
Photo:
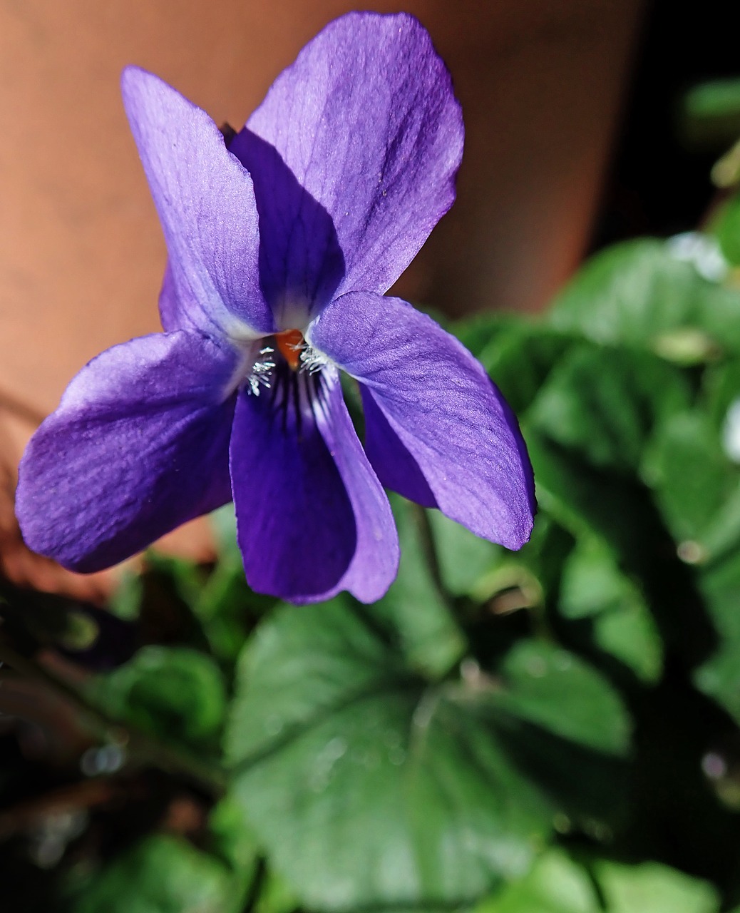
[[[594,670],[531,643],[494,675],[463,669],[412,675],[349,600],[258,628],[227,754],[247,819],[307,905],[473,900],[523,874],[563,803],[618,794],[629,724]]]

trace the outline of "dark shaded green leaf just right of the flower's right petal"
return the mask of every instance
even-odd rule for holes
[[[650,353],[581,343],[550,374],[526,417],[595,466],[630,471],[653,426],[690,401],[683,375]]]

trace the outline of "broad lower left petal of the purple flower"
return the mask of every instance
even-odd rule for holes
[[[27,545],[99,571],[229,501],[235,366],[232,352],[188,331],[89,362],[21,460],[16,514]]]

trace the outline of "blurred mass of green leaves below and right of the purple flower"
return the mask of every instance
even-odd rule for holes
[[[11,908],[740,908],[739,201],[451,327],[530,448],[522,551],[391,496],[371,606],[252,593],[230,508],[109,611],[0,584]]]

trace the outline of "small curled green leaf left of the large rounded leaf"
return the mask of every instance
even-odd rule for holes
[[[143,647],[128,663],[94,679],[89,696],[136,729],[201,747],[215,746],[226,708],[218,666],[186,647]]]

